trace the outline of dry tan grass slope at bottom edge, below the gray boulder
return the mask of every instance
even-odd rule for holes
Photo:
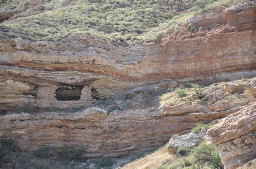
[[[169,160],[175,160],[176,157],[167,152],[167,146],[160,147],[157,151],[149,154],[148,156],[137,159],[123,168],[154,168],[161,163]]]

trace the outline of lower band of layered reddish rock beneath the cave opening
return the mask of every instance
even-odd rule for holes
[[[163,145],[173,134],[190,132],[196,123],[208,123],[240,110],[228,106],[225,111],[208,113],[193,109],[182,116],[165,115],[154,107],[109,114],[97,107],[72,113],[10,114],[0,116],[0,138],[14,138],[23,151],[44,145],[55,149],[89,145],[85,156],[125,156]]]

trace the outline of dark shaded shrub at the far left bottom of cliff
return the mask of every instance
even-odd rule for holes
[[[0,162],[8,163],[12,160],[12,153],[18,151],[15,141],[12,139],[0,140]]]

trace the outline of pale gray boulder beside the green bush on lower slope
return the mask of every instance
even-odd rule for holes
[[[182,136],[173,137],[168,143],[168,152],[170,154],[175,154],[179,147],[191,149],[192,147],[197,146],[204,136],[205,133],[201,132],[199,135],[187,133]]]

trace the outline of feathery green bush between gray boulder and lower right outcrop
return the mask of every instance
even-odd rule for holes
[[[199,167],[207,165],[210,168],[224,168],[221,163],[219,152],[212,143],[207,144],[206,142],[201,142],[199,146],[192,150],[192,154],[194,156],[195,163]]]

